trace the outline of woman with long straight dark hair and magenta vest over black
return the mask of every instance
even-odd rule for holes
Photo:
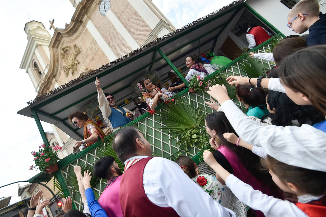
[[[210,145],[216,150],[213,155],[219,164],[243,182],[251,185],[255,190],[277,198],[283,198],[269,174],[259,170],[259,156],[244,147],[235,146],[223,137],[225,132],[236,134],[224,112],[208,114],[205,126],[207,133],[212,137]],[[219,182],[225,184],[218,174],[216,174],[216,178]],[[260,213],[258,216],[263,215]]]

